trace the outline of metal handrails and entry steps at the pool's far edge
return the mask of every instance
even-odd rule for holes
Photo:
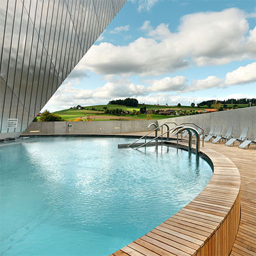
[[[174,128],[170,128],[170,124],[175,125]],[[202,132],[202,146],[204,147],[204,129],[202,127],[199,127],[198,125],[194,123],[182,123],[180,125],[177,125],[175,122],[165,122],[164,124],[161,124],[157,126],[155,123],[152,123],[148,125],[148,128],[150,128],[152,125],[155,126],[155,128],[148,132],[147,134],[141,136],[141,138],[137,139],[136,141],[130,143],[130,144],[119,144],[118,148],[135,148],[139,149],[141,147],[147,147],[147,146],[157,146],[159,143],[159,140],[161,144],[163,144],[164,141],[170,141],[170,140],[177,140],[177,147],[179,145],[179,140],[183,141],[183,135],[189,135],[188,138],[188,148],[191,150],[192,145],[192,137],[195,135],[196,137],[196,153],[200,152],[200,133]],[[186,125],[194,125],[195,127],[186,126]],[[166,127],[166,131],[163,131],[163,127]],[[199,131],[200,132],[199,132]],[[158,134],[158,131],[160,131],[160,134]],[[152,137],[152,133],[155,133],[155,136]],[[164,137],[164,135],[166,136]],[[170,138],[170,134],[173,136],[176,136],[175,138]],[[180,139],[179,139],[180,135]],[[148,141],[147,141],[148,139]],[[143,142],[141,142],[143,140]]]

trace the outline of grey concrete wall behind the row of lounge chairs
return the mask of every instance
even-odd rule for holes
[[[240,136],[243,127],[249,127],[248,138],[253,140],[256,138],[256,106],[158,120],[159,125],[164,122],[176,122],[177,124],[193,122],[199,126],[203,125],[206,134],[210,131],[211,125],[222,125],[221,134],[226,134],[228,126],[231,125],[234,127],[233,132],[237,132],[234,134],[234,138]]]

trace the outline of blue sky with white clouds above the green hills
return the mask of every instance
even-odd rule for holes
[[[128,0],[42,109],[256,98],[255,0]]]

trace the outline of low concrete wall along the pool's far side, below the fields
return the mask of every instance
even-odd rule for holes
[[[157,120],[134,120],[134,121],[97,121],[97,122],[32,122],[22,133],[28,134],[109,134],[121,132],[141,132],[150,129],[148,124],[155,123]],[[68,125],[72,125],[68,127]]]

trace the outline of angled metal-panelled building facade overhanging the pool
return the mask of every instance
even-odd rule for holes
[[[1,0],[0,138],[28,127],[125,2]]]

